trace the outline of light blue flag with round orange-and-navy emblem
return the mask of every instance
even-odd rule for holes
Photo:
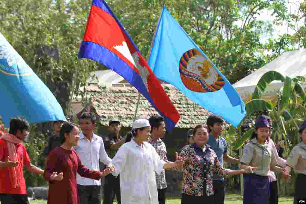
[[[183,28],[163,8],[151,46],[149,65],[157,78],[237,127],[245,105],[235,88]],[[203,121],[204,122],[204,121]]]

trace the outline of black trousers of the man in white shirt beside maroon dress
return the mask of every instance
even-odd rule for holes
[[[77,185],[80,204],[101,204],[101,186]]]

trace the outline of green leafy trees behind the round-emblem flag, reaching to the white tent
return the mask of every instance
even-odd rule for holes
[[[111,7],[147,57],[163,0],[109,1]],[[277,55],[265,55],[262,36],[272,36],[273,26],[256,16],[266,9],[288,17],[283,0],[177,1],[165,5],[188,35],[200,46],[231,83],[244,78]],[[278,21],[283,18],[278,17]],[[277,22],[278,22],[277,21]],[[272,47],[272,46],[271,46]]]

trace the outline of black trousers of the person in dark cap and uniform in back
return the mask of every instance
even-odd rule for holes
[[[117,176],[117,178],[112,174],[108,174],[107,176],[105,176],[105,182],[103,188],[103,204],[113,204],[115,195],[118,204],[121,204],[119,176]]]

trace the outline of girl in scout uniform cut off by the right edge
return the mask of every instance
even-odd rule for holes
[[[291,171],[291,168],[293,168],[294,172],[297,174],[294,204],[306,202],[306,120],[304,120],[300,127],[299,133],[302,142],[291,150],[291,153],[287,158],[285,172],[283,172],[283,177],[286,177],[287,181],[289,181],[289,172]]]

